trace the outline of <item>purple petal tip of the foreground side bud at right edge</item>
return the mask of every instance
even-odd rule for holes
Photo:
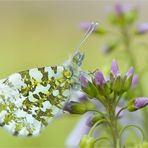
[[[148,104],[148,98],[139,97],[135,99],[134,106],[136,109],[140,109]]]

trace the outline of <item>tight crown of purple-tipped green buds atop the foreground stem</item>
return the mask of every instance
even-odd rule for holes
[[[119,71],[118,64],[115,59],[112,60],[110,77],[105,80],[103,73],[97,70],[94,75],[89,75],[89,80],[83,75],[80,76],[82,91],[90,99],[97,98],[100,102],[104,102],[104,98],[109,96],[112,91],[123,94],[128,91],[132,85],[134,68],[131,67],[125,75]]]

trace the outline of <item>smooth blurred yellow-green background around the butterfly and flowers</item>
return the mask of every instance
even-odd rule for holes
[[[138,4],[139,22],[148,20],[147,1],[122,2]],[[0,1],[0,78],[32,67],[62,64],[84,34],[79,28],[80,22],[96,21],[107,25],[105,17],[114,3],[111,0]],[[147,41],[147,38],[145,35],[138,40]],[[102,55],[100,49],[105,41],[92,35],[83,45],[81,49],[86,54],[83,69],[108,67],[114,57],[120,65],[127,66],[122,50],[106,57]],[[134,51],[139,67],[145,64],[145,52],[142,48]],[[142,79],[146,81],[146,76]],[[148,95],[146,91],[145,94]],[[63,148],[79,118],[65,115],[33,138],[13,137],[0,129],[0,148]]]

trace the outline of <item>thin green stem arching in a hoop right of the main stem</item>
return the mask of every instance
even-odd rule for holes
[[[120,133],[119,133],[120,139],[121,139],[121,136],[122,136],[123,132],[124,132],[127,128],[129,128],[129,127],[135,127],[135,128],[137,128],[137,129],[141,132],[141,135],[142,135],[142,142],[143,142],[143,141],[144,141],[144,131],[142,130],[141,127],[139,127],[138,125],[134,125],[134,124],[126,125],[126,126],[120,131]]]

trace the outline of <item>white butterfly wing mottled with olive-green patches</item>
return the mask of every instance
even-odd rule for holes
[[[0,81],[0,126],[14,135],[38,135],[62,113],[71,71],[63,66],[33,68]]]

